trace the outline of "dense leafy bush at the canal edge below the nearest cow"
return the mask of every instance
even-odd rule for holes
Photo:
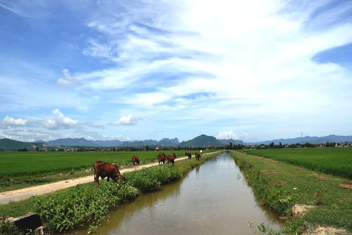
[[[102,181],[98,189],[79,184],[64,194],[36,199],[35,209],[53,231],[103,222],[110,208],[135,198],[136,191],[126,183]]]

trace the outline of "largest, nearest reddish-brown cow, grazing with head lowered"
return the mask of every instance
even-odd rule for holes
[[[94,163],[94,182],[97,187],[99,187],[99,177],[101,177],[101,179],[107,177],[107,181],[109,181],[110,178],[114,182],[116,182],[118,178],[126,181],[126,178],[120,173],[118,165],[102,161]]]

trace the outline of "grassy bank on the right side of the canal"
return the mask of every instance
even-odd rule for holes
[[[305,221],[352,232],[352,190],[340,186],[348,181],[345,178],[238,151],[231,151],[231,156],[242,167],[257,200],[287,218],[286,233],[300,234],[307,226]],[[303,218],[294,218],[291,208],[295,204],[315,207]]]

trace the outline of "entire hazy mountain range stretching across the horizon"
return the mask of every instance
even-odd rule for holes
[[[264,142],[250,142],[244,143],[242,140],[235,139],[216,139],[214,136],[208,136],[205,134],[194,137],[193,139],[179,142],[178,138],[163,138],[159,141],[153,139],[146,140],[133,140],[122,142],[120,140],[87,140],[85,138],[60,138],[56,140],[43,141],[38,140],[33,143],[20,142],[17,140],[2,138],[0,139],[0,150],[17,151],[19,149],[53,149],[57,147],[145,147],[145,146],[164,146],[164,147],[205,147],[205,146],[226,146],[229,143],[233,145],[269,145],[274,143],[275,145],[281,144],[297,144],[297,143],[311,143],[311,144],[325,144],[325,143],[345,143],[352,142],[351,136],[342,135],[328,135],[328,136],[304,136],[288,139],[273,139]]]

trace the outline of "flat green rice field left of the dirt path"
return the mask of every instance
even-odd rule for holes
[[[164,151],[166,155],[184,156],[185,151]],[[0,152],[0,179],[5,176],[41,176],[86,169],[96,161],[115,162],[120,167],[131,165],[132,156],[143,162],[157,161],[157,151],[141,152]]]

